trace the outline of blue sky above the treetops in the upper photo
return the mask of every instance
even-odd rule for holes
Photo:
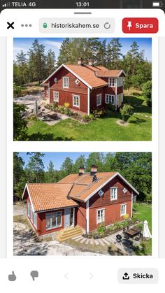
[[[23,50],[25,53],[31,47],[35,38],[14,38],[14,59],[20,50]],[[103,40],[105,38],[100,38]],[[106,38],[107,41],[110,41],[112,38]],[[56,59],[59,56],[59,49],[64,38],[38,38],[39,42],[45,45],[45,51],[48,52],[49,49],[52,49],[55,52]],[[139,45],[140,50],[145,50],[145,58],[149,61],[152,60],[152,38],[120,38],[120,43],[122,44],[122,54],[126,55],[130,50],[130,45],[136,41]]]

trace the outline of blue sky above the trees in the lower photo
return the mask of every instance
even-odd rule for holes
[[[45,154],[45,156],[42,160],[45,166],[45,171],[47,171],[50,161],[54,164],[54,168],[59,170],[66,157],[70,157],[73,162],[75,162],[80,155],[85,155],[85,158],[87,158],[90,152],[43,152],[43,154]],[[106,152],[103,152],[103,154],[106,155]],[[19,152],[19,157],[22,157],[25,163],[24,166],[26,166],[29,162],[29,157],[31,156],[27,155],[27,152]]]

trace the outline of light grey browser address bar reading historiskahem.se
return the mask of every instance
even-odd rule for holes
[[[113,33],[113,18],[41,18],[39,30],[43,34],[64,33]]]

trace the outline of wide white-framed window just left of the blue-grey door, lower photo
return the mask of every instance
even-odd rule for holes
[[[62,211],[47,213],[45,216],[45,229],[62,227]]]

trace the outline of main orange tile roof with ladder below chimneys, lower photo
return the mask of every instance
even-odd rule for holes
[[[92,192],[106,183],[106,181],[115,175],[115,173],[116,172],[98,172],[96,173],[98,180],[94,182],[92,182],[93,176],[91,176],[90,173],[85,173],[82,176],[78,176],[78,174],[71,174],[60,180],[59,183],[73,184],[73,187],[69,192],[71,199],[85,201],[85,199],[87,199]]]

